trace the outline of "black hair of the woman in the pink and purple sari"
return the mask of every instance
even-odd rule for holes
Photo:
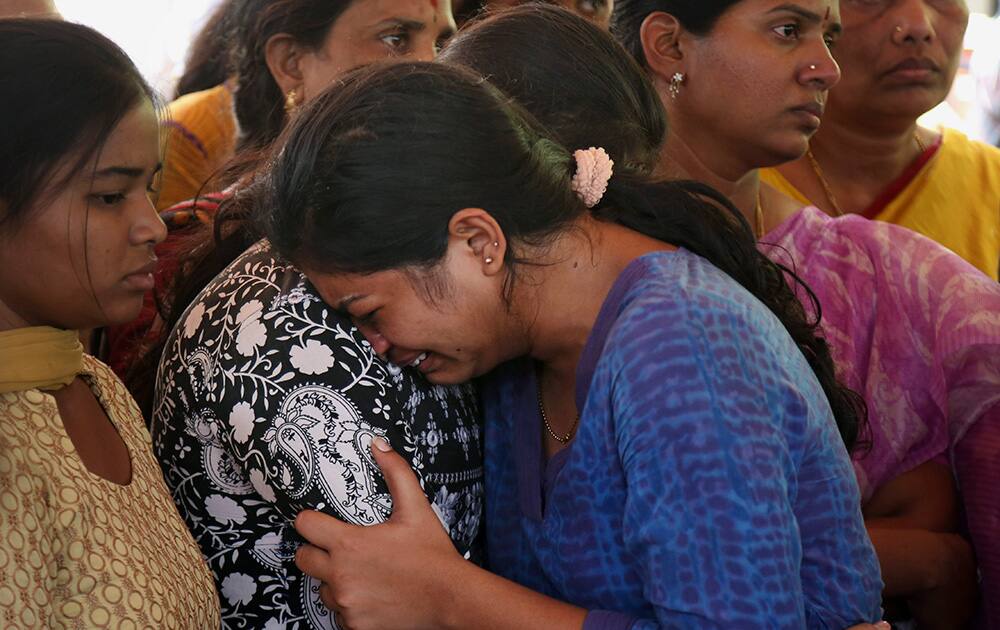
[[[707,35],[723,13],[740,0],[615,0],[611,32],[640,65],[646,65],[640,31],[650,13],[662,11],[695,35]]]

